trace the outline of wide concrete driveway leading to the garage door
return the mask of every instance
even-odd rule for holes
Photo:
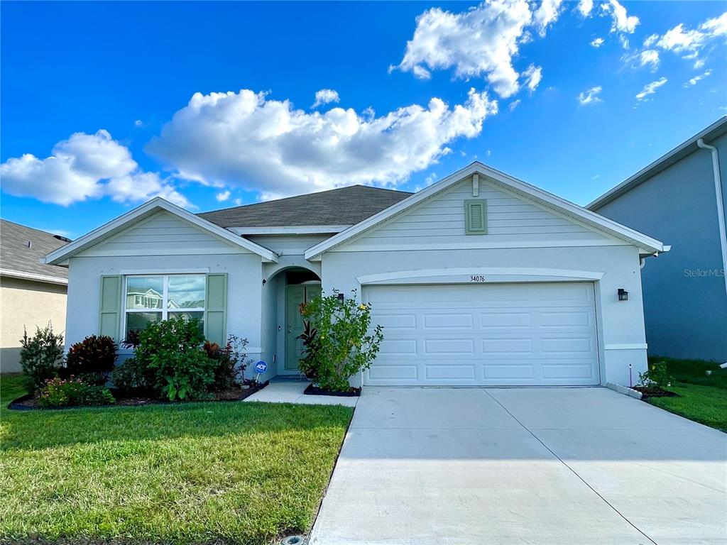
[[[366,388],[310,536],[726,544],[727,435],[605,388]]]

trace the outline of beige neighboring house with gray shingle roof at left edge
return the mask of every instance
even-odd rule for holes
[[[68,238],[0,219],[0,371],[20,371],[20,339],[24,329],[52,323],[65,330],[68,269],[41,265],[49,251]]]

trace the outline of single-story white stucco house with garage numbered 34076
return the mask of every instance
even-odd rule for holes
[[[384,326],[364,385],[598,385],[646,368],[640,267],[667,249],[472,163],[413,194],[204,214],[156,198],[44,262],[68,267],[68,344],[181,313],[249,339],[268,376],[297,374],[300,303],[336,288]]]

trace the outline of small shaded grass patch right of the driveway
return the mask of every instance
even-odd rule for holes
[[[702,360],[649,358],[664,361],[675,378],[669,389],[679,397],[649,397],[647,402],[705,426],[727,432],[727,370]],[[707,376],[707,370],[712,371]]]

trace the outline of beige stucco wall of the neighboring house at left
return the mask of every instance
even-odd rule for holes
[[[33,335],[36,326],[50,322],[56,334],[65,331],[65,292],[62,284],[0,278],[0,371],[20,371],[20,339],[24,328]]]

